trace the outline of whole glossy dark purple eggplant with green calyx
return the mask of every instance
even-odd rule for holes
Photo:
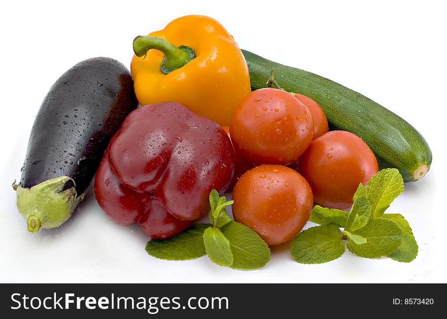
[[[76,64],[51,86],[29,136],[17,208],[28,231],[73,213],[115,132],[138,101],[127,68],[109,57]]]

